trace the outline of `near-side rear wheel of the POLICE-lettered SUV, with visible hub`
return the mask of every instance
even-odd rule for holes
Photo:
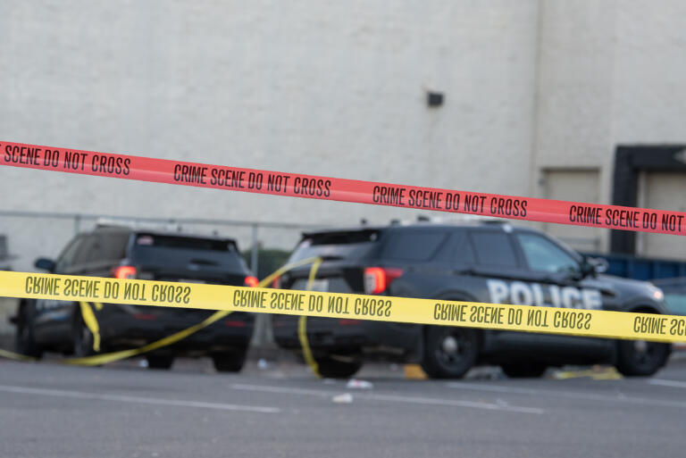
[[[475,329],[430,326],[424,333],[422,369],[431,379],[460,379],[479,356]]]

